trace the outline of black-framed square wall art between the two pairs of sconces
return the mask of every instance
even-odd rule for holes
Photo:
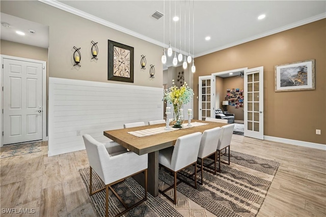
[[[133,83],[133,47],[107,40],[107,79]]]

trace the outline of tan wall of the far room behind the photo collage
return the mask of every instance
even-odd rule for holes
[[[222,106],[222,101],[226,95],[227,89],[239,88],[243,89],[243,78],[241,77],[226,77],[223,79],[223,93],[220,102]],[[235,106],[228,105],[228,111],[234,114],[234,120],[243,121],[243,107],[235,108]]]

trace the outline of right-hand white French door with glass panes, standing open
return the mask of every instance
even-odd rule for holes
[[[264,139],[263,66],[244,70],[244,136]]]

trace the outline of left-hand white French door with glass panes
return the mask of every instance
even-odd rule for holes
[[[213,90],[214,79],[211,75],[199,76],[199,96],[198,96],[198,119],[205,120],[206,118],[215,118],[214,103],[211,100],[214,99]]]

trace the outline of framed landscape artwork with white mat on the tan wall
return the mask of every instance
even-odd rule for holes
[[[275,66],[275,91],[315,90],[315,60]]]

